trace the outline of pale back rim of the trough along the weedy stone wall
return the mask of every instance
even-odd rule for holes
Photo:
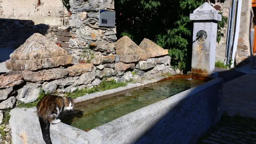
[[[106,91],[102,91],[102,92],[95,92],[95,93],[92,93],[92,94],[87,94],[87,95],[76,98],[75,103],[82,102],[82,101],[85,101],[85,100],[91,100],[91,99],[94,99],[94,98],[98,98],[98,97],[101,97],[101,96],[113,94],[113,93],[116,93],[116,92],[129,90],[129,89],[144,86],[144,85],[147,85],[147,84],[152,84],[152,83],[158,82],[158,81],[160,81],[164,78],[165,77],[160,77],[160,78],[156,78],[156,79],[153,79],[153,80],[145,80],[141,83],[128,84],[127,86],[124,86],[124,87],[118,87],[118,88],[111,89],[111,90],[106,90]]]

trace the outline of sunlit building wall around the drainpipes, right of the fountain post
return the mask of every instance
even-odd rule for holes
[[[215,5],[219,5],[219,12],[222,12],[223,16],[228,18],[229,16],[229,8],[231,2],[226,0],[223,4],[216,3]],[[213,4],[213,6],[215,6]],[[236,6],[235,6],[236,8]],[[236,10],[235,10],[236,14]],[[235,55],[235,66],[240,65],[244,66],[246,64],[252,64],[252,57],[251,49],[252,45],[250,44],[250,29],[252,28],[252,2],[249,0],[244,0],[242,2],[242,9],[241,9],[241,19],[240,19],[240,30],[238,36],[238,43],[237,43],[237,50]],[[233,30],[235,29],[236,17],[234,17],[233,22]],[[228,33],[228,23],[225,25],[224,28],[221,29],[224,33],[224,37],[221,38],[220,43],[217,43],[216,47],[216,60],[223,61],[225,60],[225,52],[226,52],[226,42],[227,42],[227,33]],[[233,31],[234,36],[234,31]]]

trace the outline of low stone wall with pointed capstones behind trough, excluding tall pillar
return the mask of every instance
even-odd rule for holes
[[[148,39],[138,46],[124,36],[109,45],[119,55],[105,49],[102,53],[92,51],[89,55],[92,59],[85,60],[88,58],[85,56],[74,64],[73,56],[66,50],[39,33],[33,34],[6,60],[10,71],[0,75],[0,111],[13,108],[17,100],[35,101],[40,89],[65,93],[90,89],[103,78],[125,82],[151,79],[168,72],[176,74],[170,67],[168,52]]]

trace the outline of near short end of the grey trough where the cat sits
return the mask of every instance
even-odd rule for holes
[[[13,144],[45,144],[36,115],[36,107],[33,108],[14,108],[10,112],[10,127],[12,132]],[[52,143],[76,143],[76,144],[95,144],[95,137],[83,130],[73,126],[58,123],[51,124],[50,136]]]

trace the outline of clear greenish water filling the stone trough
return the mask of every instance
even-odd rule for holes
[[[85,102],[77,103],[76,114],[61,120],[76,128],[93,129],[157,101],[205,83],[205,80],[173,78]]]

